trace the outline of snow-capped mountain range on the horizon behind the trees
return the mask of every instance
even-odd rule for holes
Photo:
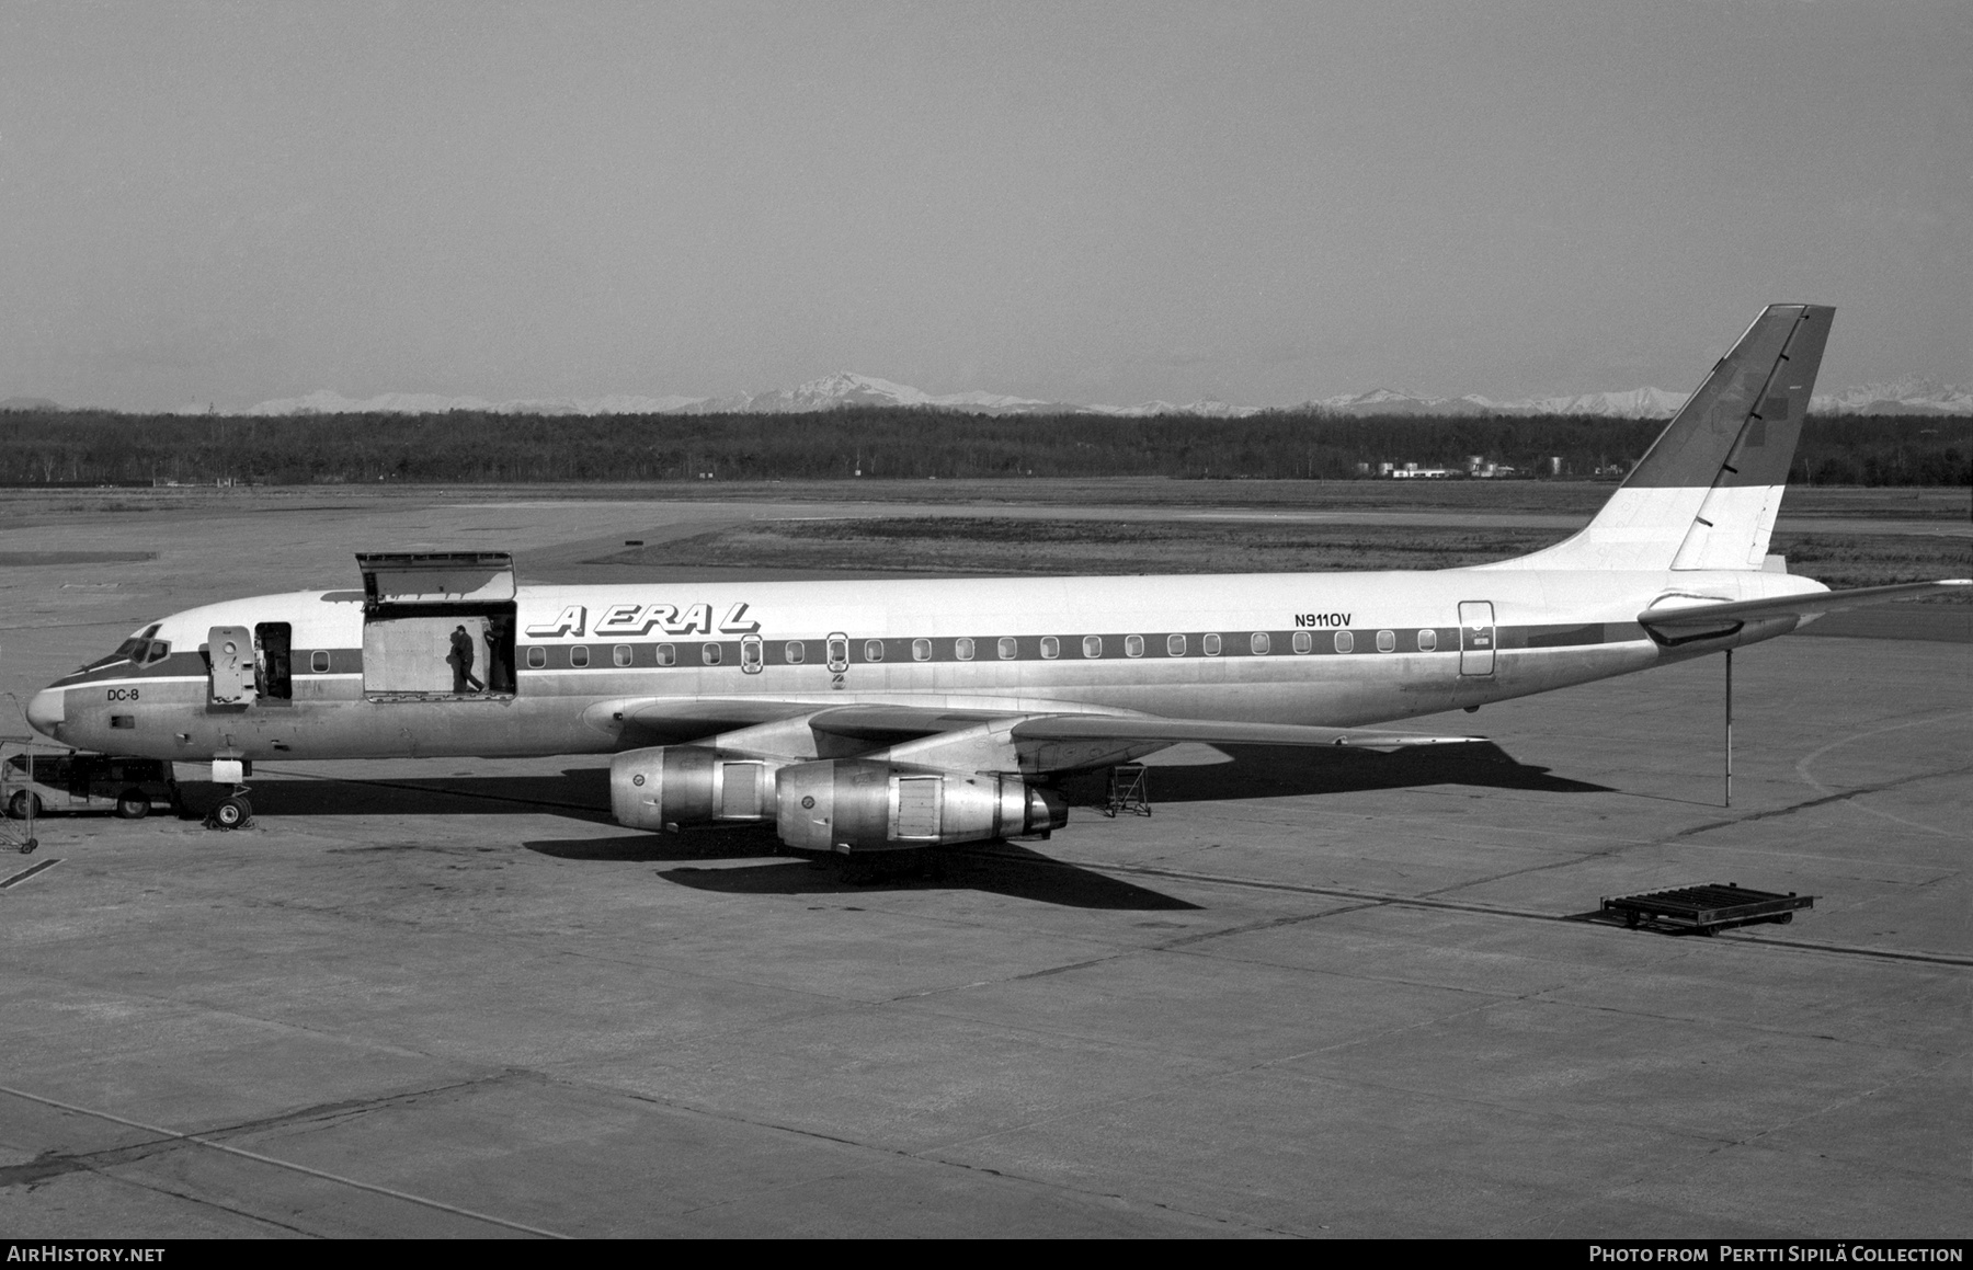
[[[1486,416],[1486,414],[1590,414],[1602,418],[1671,418],[1685,404],[1685,392],[1663,388],[1630,388],[1626,392],[1584,392],[1576,396],[1525,396],[1492,400],[1486,396],[1430,396],[1373,388],[1350,396],[1326,396],[1290,408],[1318,408],[1332,414],[1423,414],[1423,416]],[[438,392],[385,392],[381,396],[347,398],[322,388],[308,396],[282,396],[245,410],[217,410],[207,404],[183,406],[178,414],[442,414],[448,410],[483,410],[491,414],[801,414],[835,410],[839,406],[933,406],[967,414],[1111,414],[1119,418],[1148,418],[1154,414],[1196,414],[1204,418],[1245,418],[1271,406],[1233,406],[1221,400],[1176,404],[1150,400],[1134,406],[1105,406],[1006,396],[1000,392],[933,394],[910,385],[840,371],[811,379],[799,388],[740,392],[734,396],[558,396],[487,400],[481,396],[444,396]],[[0,408],[55,408],[41,398],[8,398]],[[1815,396],[1821,414],[1969,414],[1973,388],[1939,385],[1926,379],[1872,383]]]

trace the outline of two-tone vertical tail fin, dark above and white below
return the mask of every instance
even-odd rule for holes
[[[1588,529],[1488,568],[1760,568],[1833,308],[1770,304]]]

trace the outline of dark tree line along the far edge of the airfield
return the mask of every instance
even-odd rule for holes
[[[1969,485],[1957,416],[1809,416],[1790,479]],[[527,483],[833,477],[1352,479],[1379,463],[1517,475],[1624,469],[1661,420],[1594,416],[1251,418],[959,414],[846,406],[821,414],[0,414],[0,485]]]

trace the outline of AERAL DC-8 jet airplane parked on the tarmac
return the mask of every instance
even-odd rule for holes
[[[251,818],[255,761],[610,753],[625,826],[773,824],[793,852],[860,862],[1044,838],[1067,820],[1061,777],[1186,741],[1472,741],[1369,726],[1973,586],[1831,592],[1768,554],[1833,312],[1768,306],[1588,527],[1513,560],[543,586],[501,552],[359,554],[363,590],[172,613],[36,694],[28,720],[83,749],[211,763],[233,789],[219,826]]]

